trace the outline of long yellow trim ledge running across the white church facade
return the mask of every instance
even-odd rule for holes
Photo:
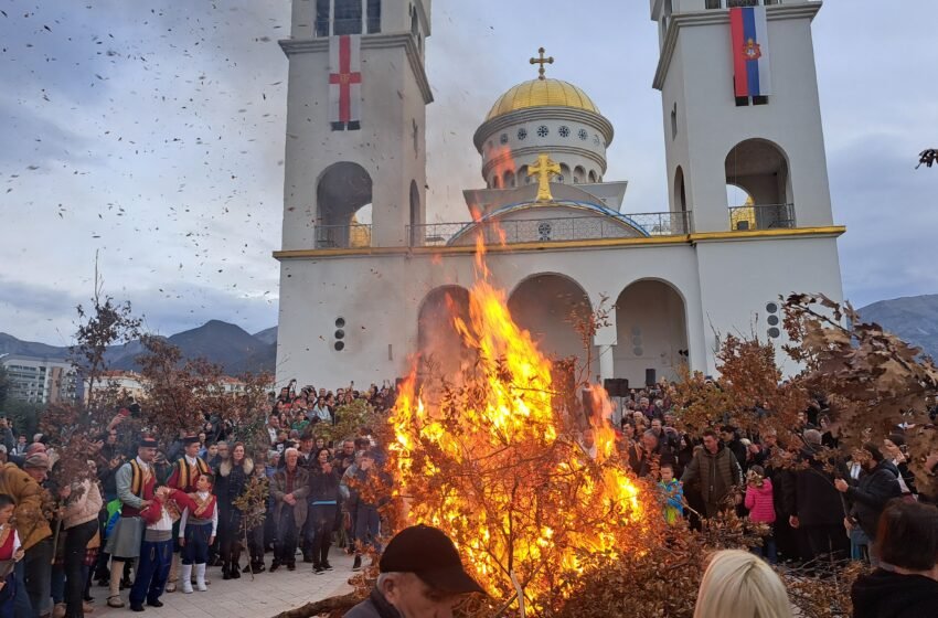
[[[604,248],[627,246],[683,245],[713,241],[750,241],[754,238],[791,238],[802,236],[840,236],[846,232],[843,225],[823,227],[796,227],[785,230],[747,230],[739,232],[700,232],[680,236],[641,236],[628,238],[595,238],[587,241],[559,241],[550,243],[516,243],[512,245],[489,245],[489,253],[512,253],[529,251],[556,251],[578,248]],[[439,247],[365,247],[338,249],[292,249],[274,252],[276,259],[296,259],[307,257],[355,257],[372,255],[439,255],[439,254],[472,254],[475,245],[439,246]]]

